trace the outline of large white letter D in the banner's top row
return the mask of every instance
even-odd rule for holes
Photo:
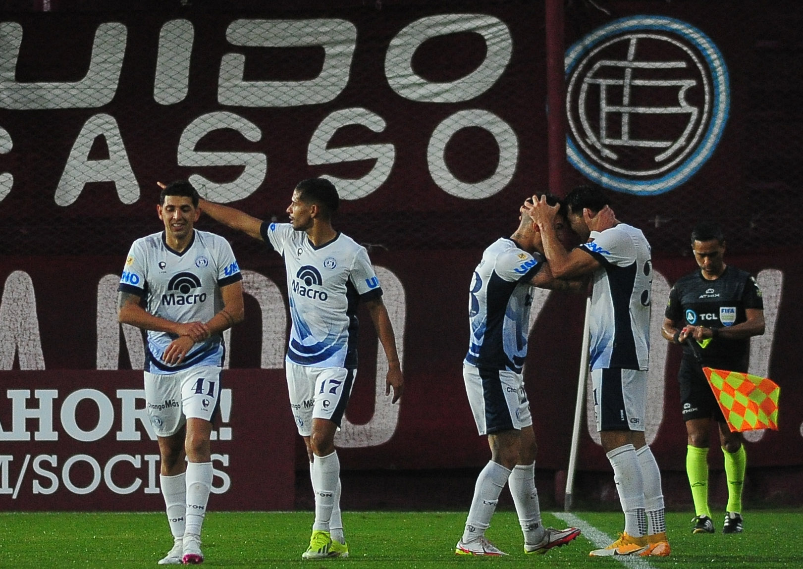
[[[323,47],[318,76],[305,81],[246,81],[245,55],[226,53],[220,62],[218,103],[237,107],[296,107],[328,103],[349,83],[357,27],[340,19],[235,20],[226,39],[242,47]]]

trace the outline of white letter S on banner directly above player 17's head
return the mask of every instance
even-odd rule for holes
[[[385,120],[375,112],[366,108],[344,108],[326,116],[318,128],[312,133],[307,151],[309,165],[338,164],[340,162],[353,162],[362,160],[376,161],[371,171],[357,180],[340,178],[331,174],[324,176],[336,185],[345,181],[347,184],[338,185],[340,198],[344,200],[358,200],[376,191],[388,179],[393,161],[396,160],[396,148],[393,144],[356,144],[353,146],[340,146],[329,148],[329,141],[339,128],[349,124],[360,124],[373,132],[385,130]]]

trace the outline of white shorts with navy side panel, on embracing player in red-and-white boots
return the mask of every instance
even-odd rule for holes
[[[530,402],[520,373],[463,364],[463,381],[479,434],[532,425]]]

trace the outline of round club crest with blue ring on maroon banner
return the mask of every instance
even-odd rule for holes
[[[601,26],[565,55],[569,162],[627,193],[668,192],[711,157],[728,120],[728,69],[701,30],[631,16]]]

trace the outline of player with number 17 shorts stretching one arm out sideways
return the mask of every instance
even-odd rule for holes
[[[349,556],[334,438],[357,372],[358,302],[368,307],[388,359],[385,395],[393,388],[396,403],[404,388],[393,326],[368,252],[332,227],[339,201],[332,182],[312,178],[293,190],[290,223],[262,222],[226,205],[201,202],[210,217],[263,240],[284,258],[292,320],[287,389],[315,492],[315,522],[304,559]]]

